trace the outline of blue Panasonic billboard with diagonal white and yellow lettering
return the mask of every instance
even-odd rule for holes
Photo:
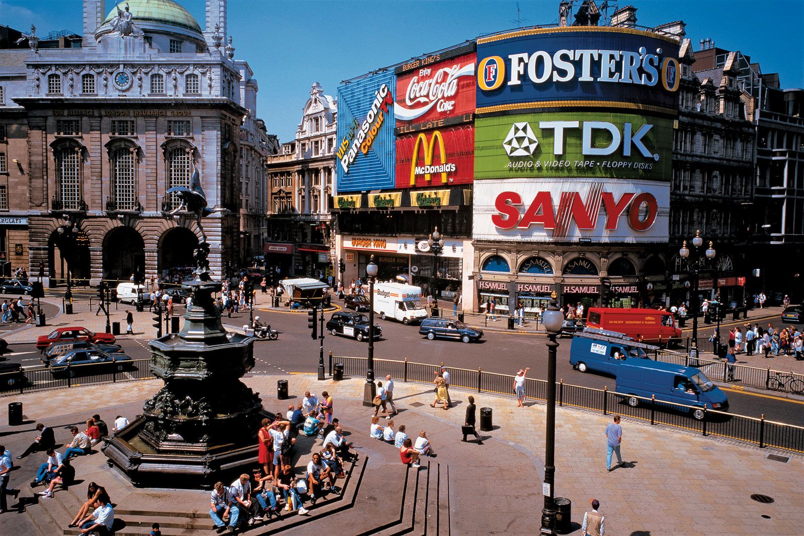
[[[394,187],[395,95],[390,71],[338,87],[338,192]]]

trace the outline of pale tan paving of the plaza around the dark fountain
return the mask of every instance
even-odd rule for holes
[[[384,464],[398,463],[395,449],[367,435],[371,412],[361,404],[363,378],[334,382],[317,381],[310,374],[247,374],[243,382],[263,393],[266,409],[277,411],[289,403],[275,398],[278,379],[288,380],[290,402],[297,402],[306,390],[330,391],[335,416],[351,432],[349,439],[361,446],[363,453],[379,456]],[[6,415],[2,415],[0,441],[15,456],[34,435],[35,422],[43,420],[59,427],[56,440],[63,443],[68,432],[62,427],[68,423],[80,422],[96,411],[108,423],[118,412],[133,418],[142,401],[160,387],[160,380],[144,380],[32,392],[14,396],[13,400],[8,397],[9,402],[24,404],[27,421],[23,426],[10,427]],[[470,391],[450,392],[456,406],[448,411],[433,409],[429,407],[433,402],[429,385],[398,381],[395,399],[403,411],[394,421],[397,426],[405,424],[409,435],[426,430],[439,454],[437,461],[449,465],[452,534],[533,534],[540,525],[543,505],[540,484],[544,464],[544,404],[528,402],[526,407],[518,408],[509,397],[474,393],[478,408],[492,408],[494,429],[481,432],[484,445],[462,443],[460,427]],[[606,534],[800,533],[804,524],[804,499],[800,491],[804,457],[769,459],[769,452],[761,448],[623,419],[622,454],[626,464],[608,473],[604,430],[610,417],[556,408],[554,494],[572,501],[574,534],[580,534],[580,522],[592,498],[601,501]],[[18,469],[12,473],[10,485],[23,489],[23,496],[30,497],[27,482],[42,458],[41,453],[29,456],[18,462]],[[96,454],[76,460],[77,478],[92,477],[101,485],[107,482],[125,485],[125,481],[121,484],[121,473],[105,468],[100,464],[102,459],[102,454]],[[302,458],[300,465],[306,461]],[[87,470],[83,468],[90,466],[93,472],[82,474]],[[76,488],[76,493],[83,493],[83,485],[80,488]],[[128,493],[137,493],[130,485],[129,488]],[[113,499],[125,508],[128,495],[116,493]],[[170,499],[170,508],[177,511],[203,510],[207,504],[207,492],[178,495],[170,489],[151,489],[141,493],[149,493],[154,505]],[[753,500],[751,495],[757,493],[771,497],[773,502]],[[379,494],[376,500],[384,501],[383,495]],[[15,503],[10,499],[11,506]],[[398,507],[398,502],[388,504],[388,511]],[[26,513],[2,514],[2,532],[43,534],[39,524],[32,521],[45,517],[43,508],[48,508],[47,502],[28,505]],[[352,515],[358,518],[361,513],[355,511]],[[69,520],[65,517],[60,521],[61,526],[66,526]],[[337,533],[349,534],[348,528]]]

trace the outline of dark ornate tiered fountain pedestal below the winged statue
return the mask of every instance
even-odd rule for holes
[[[208,485],[244,473],[256,464],[260,421],[272,416],[240,382],[254,366],[254,338],[221,324],[211,296],[221,285],[204,267],[208,249],[202,241],[196,279],[183,285],[193,292],[183,329],[150,342],[150,368],[165,387],[103,447],[109,465],[137,485]]]

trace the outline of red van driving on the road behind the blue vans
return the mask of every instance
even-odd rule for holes
[[[625,333],[637,341],[662,344],[681,342],[681,329],[675,325],[670,311],[590,307],[586,325]]]

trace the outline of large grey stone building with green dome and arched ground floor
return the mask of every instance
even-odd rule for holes
[[[80,47],[37,44],[3,51],[22,59],[8,84],[16,122],[9,130],[2,120],[17,162],[0,175],[27,205],[32,272],[42,264],[51,286],[68,271],[90,284],[131,274],[181,280],[201,231],[189,213],[169,215],[180,203],[166,190],[189,185],[194,170],[209,206],[230,211],[203,222],[211,268],[239,264],[245,232],[260,232],[265,149],[256,81],[233,59],[226,0],[207,2],[203,29],[173,0],[84,0]],[[251,203],[247,183],[263,192]]]

